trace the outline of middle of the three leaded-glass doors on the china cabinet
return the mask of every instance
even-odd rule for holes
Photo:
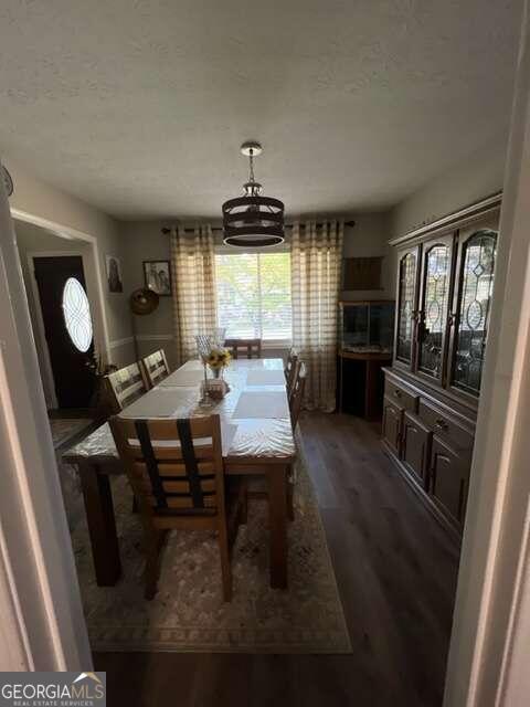
[[[428,244],[423,257],[416,368],[439,381],[445,360],[453,238],[451,234]]]

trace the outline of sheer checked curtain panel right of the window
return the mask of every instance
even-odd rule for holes
[[[343,221],[293,228],[293,345],[307,365],[304,407],[332,412],[337,387],[337,303]]]

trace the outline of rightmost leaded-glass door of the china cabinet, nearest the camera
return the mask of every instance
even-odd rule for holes
[[[476,231],[460,245],[451,383],[478,395],[494,291],[497,232]]]

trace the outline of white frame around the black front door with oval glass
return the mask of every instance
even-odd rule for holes
[[[31,294],[33,296],[33,302],[35,304],[35,317],[36,317],[35,338],[39,340],[39,346],[43,354],[44,360],[43,360],[42,376],[43,378],[46,379],[46,386],[51,393],[51,402],[53,404],[53,408],[59,408],[59,402],[57,402],[57,394],[55,390],[55,377],[53,376],[52,358],[50,356],[50,347],[47,346],[47,339],[46,339],[46,334],[44,328],[44,318],[42,316],[41,295],[39,293],[39,284],[35,277],[34,258],[35,257],[71,257],[71,256],[77,256],[77,257],[81,257],[82,260],[83,272],[85,276],[86,295],[88,297],[88,303],[91,305],[91,318],[92,318],[92,326],[94,330],[93,340],[95,342],[99,338],[99,331],[97,327],[97,320],[94,317],[94,312],[93,312],[92,291],[88,286],[88,281],[86,277],[86,264],[87,264],[86,254],[83,253],[82,251],[29,251],[26,253],[28,267],[30,272],[30,282],[31,282]],[[96,303],[96,306],[97,306],[97,303]]]

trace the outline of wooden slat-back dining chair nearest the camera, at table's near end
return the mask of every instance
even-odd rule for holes
[[[109,421],[144,527],[146,599],[157,593],[159,556],[169,530],[215,530],[224,601],[232,598],[230,552],[246,523],[246,483],[226,477],[219,415]]]

